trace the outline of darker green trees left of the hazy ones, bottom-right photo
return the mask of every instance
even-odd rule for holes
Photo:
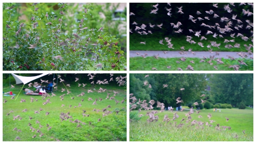
[[[146,99],[149,102],[153,99],[164,103],[165,106],[180,106],[181,103],[176,104],[178,97],[184,103],[198,99],[207,85],[205,74],[149,74],[146,78],[145,75],[130,74],[130,93],[141,101]],[[143,86],[144,81],[152,88],[148,88],[149,85]],[[168,84],[168,87],[163,88],[163,84]],[[185,90],[181,91],[181,88]]]

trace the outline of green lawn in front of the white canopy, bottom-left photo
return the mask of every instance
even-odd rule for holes
[[[42,105],[46,99],[42,100],[41,96],[31,95],[32,98],[38,99],[38,101],[30,102],[30,95],[24,95],[24,91],[21,91],[21,94],[19,94],[16,100],[10,99],[11,96],[3,96],[3,98],[7,100],[7,102],[3,104],[3,141],[15,141],[17,136],[21,138],[21,140],[17,141],[56,141],[56,139],[60,141],[127,140],[126,100],[121,104],[121,101],[126,97],[126,88],[111,85],[96,85],[92,87],[91,84],[88,84],[85,87],[78,87],[77,83],[70,84],[70,86],[71,87],[67,88],[71,91],[71,94],[67,95],[67,89],[64,92],[61,92],[61,88],[65,87],[61,83],[58,83],[58,90],[54,90],[54,94],[57,96],[46,97],[46,99],[51,99],[51,103],[46,105]],[[21,87],[21,85],[15,85],[15,88],[7,88],[3,91],[12,91],[13,94],[16,94],[16,98]],[[24,88],[27,87],[27,85],[24,86]],[[107,91],[98,93],[100,87],[107,89]],[[87,93],[88,89],[92,89],[94,92]],[[118,92],[115,96],[115,99],[119,101],[117,105],[115,99],[105,99],[107,92],[111,93],[110,96],[113,96],[113,90]],[[78,97],[77,95],[81,94],[81,92],[85,92],[85,95]],[[63,101],[60,101],[61,98],[59,96],[63,94],[65,94],[64,99]],[[74,99],[71,99],[73,96]],[[87,99],[89,97],[93,100],[95,100],[95,98],[103,98],[103,100],[97,101],[97,105],[92,105],[94,101],[88,101]],[[21,98],[26,99],[26,102],[21,103]],[[84,101],[81,102],[81,99],[84,99]],[[74,108],[74,106],[78,106],[79,103],[82,107]],[[61,107],[62,104],[65,106]],[[69,108],[69,105],[72,105],[72,107]],[[102,109],[106,108],[108,105],[110,105],[111,108],[107,108],[107,110],[112,111],[113,113],[103,117]],[[39,111],[40,114],[34,114],[36,110],[40,110],[40,107],[43,109],[42,111]],[[25,108],[27,108],[27,112],[21,112]],[[94,108],[101,111],[98,113],[97,111],[92,111]],[[9,113],[11,110],[13,110],[13,113],[6,116],[6,113]],[[89,117],[83,117],[82,110],[86,110],[85,114],[90,114]],[[121,111],[116,114],[115,110]],[[46,111],[50,112],[47,116],[45,115]],[[70,112],[73,121],[78,119],[85,122],[86,125],[80,123],[82,128],[77,128],[76,126],[78,123],[71,123],[69,122],[70,119],[61,122],[61,112]],[[17,115],[20,115],[23,119],[13,120],[13,116]],[[33,117],[33,119],[29,120],[29,116]],[[98,119],[101,119],[101,121],[98,122]],[[31,123],[33,128],[39,129],[39,123],[36,124],[36,120],[39,120],[40,124],[43,126],[40,128],[40,131],[44,134],[42,137],[39,137],[40,133],[36,133],[36,131],[31,132],[30,126],[28,126],[28,123]],[[89,122],[91,122],[91,125],[89,125]],[[52,129],[47,131],[48,127],[46,127],[46,124],[52,126]],[[13,128],[21,129],[22,132],[17,133],[17,131],[13,131]],[[32,138],[35,134],[37,136]]]

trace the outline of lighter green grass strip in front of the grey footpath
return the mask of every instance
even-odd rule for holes
[[[159,58],[155,59],[152,56],[142,58],[142,57],[133,57],[130,58],[130,70],[152,70],[152,67],[155,67],[157,70],[168,71],[168,70],[178,70],[178,68],[182,68],[182,70],[186,70],[188,65],[191,65],[195,71],[197,70],[207,70],[207,71],[216,71],[213,67],[217,66],[218,70],[225,71],[234,71],[234,68],[228,68],[230,65],[240,65],[237,60],[231,61],[230,59],[222,58],[224,64],[217,64],[217,61],[211,61],[213,65],[208,64],[207,62],[200,62],[201,58],[186,58],[186,61],[180,61],[180,58]],[[243,60],[248,66],[240,65],[241,68],[239,70],[253,70],[253,59],[240,59]],[[176,61],[179,61],[178,64]],[[195,62],[192,64],[189,61]],[[206,60],[207,61],[207,60]],[[171,68],[167,68],[167,66],[171,66]]]

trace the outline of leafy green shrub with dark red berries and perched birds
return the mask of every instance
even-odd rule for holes
[[[64,7],[54,10],[57,4]],[[27,4],[21,11],[28,21],[19,21],[17,7],[4,10],[3,21],[11,28],[3,28],[3,70],[126,70],[118,34],[111,34],[119,28],[115,23],[118,21],[111,20],[110,4],[105,5],[107,11],[92,4],[83,5],[81,9],[78,4],[72,5]],[[39,10],[34,10],[36,7]],[[99,12],[104,13],[105,20]]]

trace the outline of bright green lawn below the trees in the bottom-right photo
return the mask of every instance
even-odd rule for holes
[[[159,110],[158,110],[159,111]],[[176,126],[180,124],[180,121],[184,117],[185,123],[181,128],[177,128],[174,121],[171,120],[166,124],[162,122],[164,115],[167,114],[170,119],[173,119],[173,113],[170,111],[164,111],[162,113],[155,114],[159,116],[158,122],[147,123],[149,116],[146,116],[148,111],[141,111],[139,114],[144,116],[139,122],[130,122],[130,141],[253,141],[253,110],[240,110],[237,108],[222,109],[221,112],[213,112],[213,110],[200,110],[199,114],[191,114],[192,120],[204,122],[204,129],[197,124],[191,126],[191,122],[186,123],[187,117],[185,111],[173,111],[177,112],[179,118],[174,120],[177,122]],[[212,114],[211,119],[208,119],[208,113]],[[202,118],[198,118],[201,115]],[[229,118],[226,122],[225,117]],[[210,123],[210,120],[215,122]],[[213,125],[212,127],[205,126],[205,123]],[[216,130],[216,124],[220,126],[230,126],[232,131]],[[245,134],[243,134],[245,130]],[[235,135],[238,138],[234,138]]]

